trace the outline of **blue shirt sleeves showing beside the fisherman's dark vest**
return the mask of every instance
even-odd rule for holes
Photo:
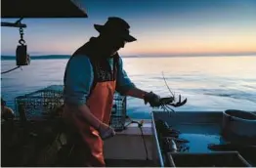
[[[113,69],[113,59],[108,59]],[[119,58],[119,72],[116,77],[116,91],[121,95],[134,88],[135,85],[123,69],[122,59]],[[94,80],[93,66],[88,57],[74,57],[65,69],[64,102],[72,105],[84,105]]]

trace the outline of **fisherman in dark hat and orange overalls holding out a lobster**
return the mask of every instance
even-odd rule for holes
[[[159,96],[138,89],[130,80],[117,53],[137,40],[129,34],[130,25],[110,17],[94,27],[100,35],[74,52],[64,72],[64,121],[76,163],[72,166],[106,166],[103,141],[115,134],[108,125],[115,91],[159,105]]]

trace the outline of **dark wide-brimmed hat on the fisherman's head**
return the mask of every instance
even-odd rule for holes
[[[126,42],[133,42],[137,40],[135,37],[130,35],[130,25],[128,22],[117,17],[109,17],[104,25],[94,24],[94,27],[100,33],[112,33],[116,36],[120,36]]]

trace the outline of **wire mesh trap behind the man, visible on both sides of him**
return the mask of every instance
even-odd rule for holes
[[[33,120],[50,114],[53,109],[64,104],[64,86],[52,85],[16,98],[16,110],[21,120]],[[116,131],[124,129],[126,118],[126,97],[114,94],[110,126]]]

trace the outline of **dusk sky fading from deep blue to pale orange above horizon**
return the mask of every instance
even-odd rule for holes
[[[80,0],[86,19],[24,19],[33,55],[69,55],[108,17],[128,21],[138,41],[121,55],[256,53],[256,0]],[[2,21],[16,21],[6,20]],[[19,29],[1,27],[1,54],[15,55]]]

